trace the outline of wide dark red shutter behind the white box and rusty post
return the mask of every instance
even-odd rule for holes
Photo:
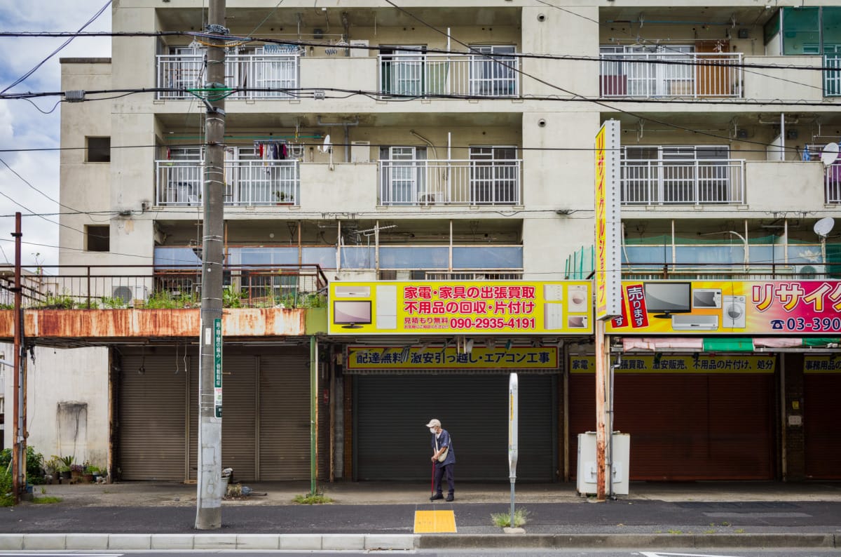
[[[614,430],[632,480],[771,480],[773,374],[616,374]],[[595,376],[569,379],[569,463],[595,431]]]

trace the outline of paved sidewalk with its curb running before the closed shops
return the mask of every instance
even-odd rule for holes
[[[518,484],[522,533],[490,519],[508,512],[508,484],[462,484],[456,501],[431,503],[423,485],[325,483],[333,503],[312,507],[292,502],[309,482],[244,485],[265,495],[223,501],[209,532],[193,529],[195,485],[46,485],[60,503],[0,509],[0,549],[841,548],[841,482],[632,482],[602,502],[574,484]],[[452,511],[458,533],[416,534],[415,512],[429,510]]]

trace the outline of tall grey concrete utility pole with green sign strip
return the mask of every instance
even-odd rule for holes
[[[207,32],[228,34],[225,0],[210,0]],[[202,313],[198,334],[198,496],[196,528],[222,527],[222,236],[225,219],[225,40],[211,39],[207,54],[204,154]]]

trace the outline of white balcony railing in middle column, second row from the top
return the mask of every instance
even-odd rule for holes
[[[519,159],[380,161],[383,205],[519,205]]]

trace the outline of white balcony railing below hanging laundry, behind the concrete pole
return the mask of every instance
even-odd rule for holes
[[[202,161],[156,161],[157,205],[198,205],[204,179]],[[226,205],[297,205],[298,161],[225,161]]]

